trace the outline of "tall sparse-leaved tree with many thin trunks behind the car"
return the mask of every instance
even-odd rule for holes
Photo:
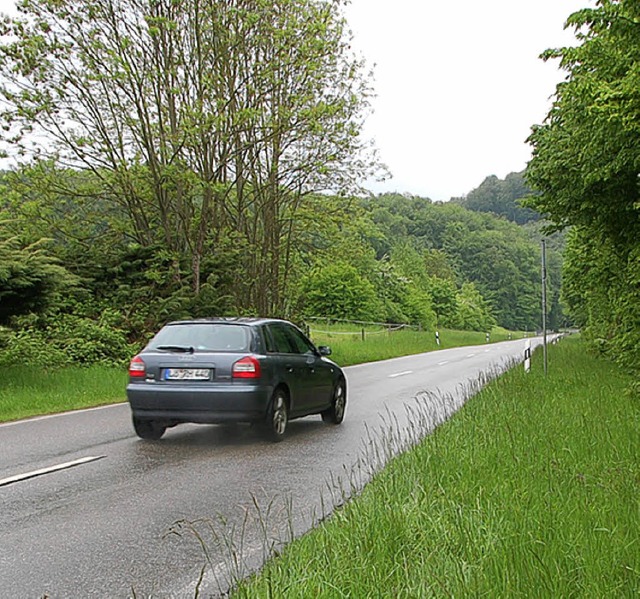
[[[24,0],[4,25],[5,141],[89,170],[132,241],[190,262],[240,238],[246,309],[283,309],[295,214],[375,168],[342,0]],[[46,82],[46,85],[44,84]]]

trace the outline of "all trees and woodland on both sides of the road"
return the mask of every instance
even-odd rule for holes
[[[3,23],[0,362],[121,363],[212,315],[538,330],[546,238],[549,325],[637,367],[636,4],[570,17],[526,172],[445,203],[361,189],[385,168],[342,4],[29,0]]]

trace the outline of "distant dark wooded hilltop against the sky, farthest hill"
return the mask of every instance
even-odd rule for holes
[[[451,201],[474,212],[490,212],[524,225],[540,219],[537,212],[521,205],[521,201],[532,193],[522,171],[510,173],[504,179],[491,175],[465,197],[452,198]]]

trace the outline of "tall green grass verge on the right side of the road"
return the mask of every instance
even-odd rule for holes
[[[578,339],[487,386],[233,597],[638,597],[640,405]]]

